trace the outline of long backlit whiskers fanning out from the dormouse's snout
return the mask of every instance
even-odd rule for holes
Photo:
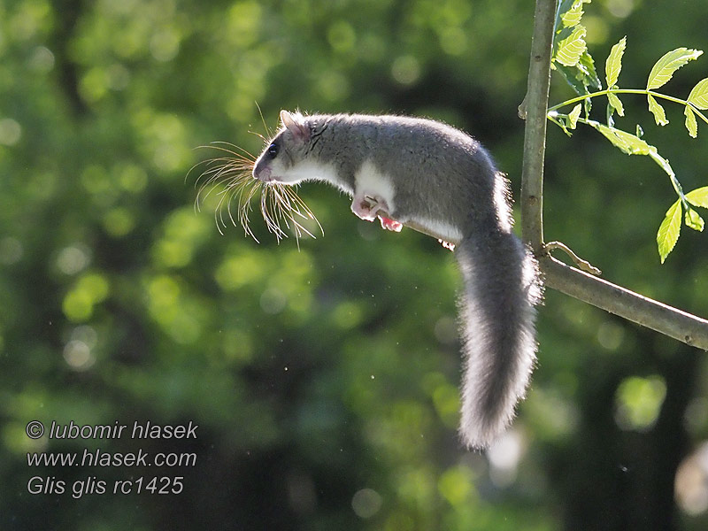
[[[297,196],[294,187],[280,182],[262,182],[254,179],[253,165],[256,158],[248,151],[229,142],[212,142],[211,148],[225,153],[223,157],[210,158],[192,167],[206,165],[206,169],[196,178],[195,209],[201,210],[201,205],[212,193],[219,196],[219,202],[214,210],[214,220],[219,234],[223,235],[230,222],[235,227],[241,225],[245,235],[256,242],[258,238],[250,229],[250,213],[253,212],[252,199],[260,194],[260,212],[266,221],[269,232],[275,235],[278,242],[288,237],[286,229],[295,235],[299,248],[300,238],[312,234],[304,221],[312,219],[319,231],[324,235],[322,226],[304,201]],[[188,173],[189,175],[189,173]]]

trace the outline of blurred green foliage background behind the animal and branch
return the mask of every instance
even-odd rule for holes
[[[631,83],[665,50],[708,49],[706,13],[596,0],[583,20],[598,57],[621,35],[635,42]],[[700,504],[674,504],[677,466],[708,437],[702,353],[549,292],[519,418],[493,452],[469,453],[455,434],[448,251],[356,219],[316,184],[300,196],[326,235],[299,251],[258,216],[260,244],[239,227],[219,235],[218,196],[193,207],[196,173],[185,175],[213,156],[196,146],[256,153],[277,112],[298,107],[446,120],[478,136],[518,189],[532,17],[520,0],[0,4],[2,527],[704,528]],[[675,93],[700,68],[682,69]],[[628,116],[645,105],[623,103]],[[704,186],[705,140],[687,147],[644,115],[685,186]],[[672,193],[650,161],[550,130],[549,239],[705,316],[705,236],[685,235],[665,266],[656,258]],[[31,440],[32,419],[199,427],[196,441]],[[198,459],[159,472],[27,466],[29,451],[98,447]],[[184,476],[184,492],[27,491],[33,475],[155,474]]]

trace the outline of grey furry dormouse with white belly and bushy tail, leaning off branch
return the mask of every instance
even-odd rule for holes
[[[429,119],[281,112],[253,167],[264,182],[326,181],[359,218],[426,227],[455,249],[464,280],[462,419],[470,448],[512,422],[535,365],[535,260],[512,233],[508,182],[471,136]]]

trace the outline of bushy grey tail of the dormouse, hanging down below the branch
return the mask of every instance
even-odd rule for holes
[[[467,446],[486,448],[526,394],[542,289],[535,259],[511,232],[467,235],[455,255],[465,283],[459,433]]]

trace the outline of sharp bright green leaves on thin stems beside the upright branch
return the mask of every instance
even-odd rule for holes
[[[676,178],[675,173],[673,173],[668,159],[659,155],[655,146],[642,139],[642,128],[637,125],[635,134],[627,133],[627,131],[615,127],[613,116],[615,113],[620,117],[625,115],[620,94],[639,94],[646,96],[649,112],[654,117],[656,124],[658,126],[666,126],[669,120],[666,118],[664,107],[658,102],[659,99],[666,100],[674,104],[683,105],[683,113],[686,116],[685,127],[689,132],[689,136],[696,138],[698,135],[698,119],[708,124],[708,119],[701,112],[708,109],[708,78],[698,81],[685,100],[679,97],[667,96],[657,92],[657,89],[662,88],[668,81],[671,81],[673,74],[681,66],[700,57],[703,51],[689,48],[671,50],[659,58],[651,67],[645,89],[620,89],[618,82],[622,71],[622,58],[627,49],[627,37],[622,37],[620,42],[612,46],[612,50],[610,50],[610,54],[605,60],[604,81],[606,89],[603,89],[602,81],[600,81],[596,72],[595,61],[590,56],[585,42],[587,30],[581,24],[583,5],[590,2],[591,0],[562,0],[558,4],[551,66],[566,78],[566,81],[578,96],[550,107],[548,118],[558,127],[561,127],[566,132],[566,135],[569,136],[572,135],[571,131],[579,123],[593,127],[623,153],[647,156],[669,176],[678,199],[666,211],[666,216],[658,228],[658,254],[663,264],[679,239],[681,221],[694,230],[702,231],[704,229],[704,219],[701,218],[694,207],[708,208],[708,187],[695,189],[684,194],[681,183]],[[593,91],[591,92],[591,90]],[[598,96],[607,97],[606,123],[590,119],[592,99]],[[571,112],[567,114],[558,112],[558,109],[571,104],[574,104]],[[584,116],[581,116],[583,110]]]

